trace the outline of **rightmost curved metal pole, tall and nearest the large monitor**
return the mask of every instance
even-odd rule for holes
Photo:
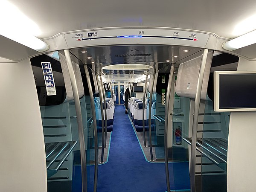
[[[192,125],[192,142],[191,142],[191,165],[190,165],[190,187],[191,192],[195,192],[195,154],[196,154],[196,140],[197,140],[197,129],[198,129],[198,114],[199,114],[199,106],[201,99],[201,91],[204,80],[204,70],[207,61],[208,49],[204,49],[199,76],[198,76],[198,84],[196,87],[195,94],[195,108],[194,108],[194,116],[193,116],[193,125]]]

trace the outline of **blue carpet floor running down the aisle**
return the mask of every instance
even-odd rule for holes
[[[89,166],[88,166],[89,168]],[[73,192],[81,192],[81,166],[75,166]],[[171,189],[190,188],[188,163],[169,163]],[[165,192],[164,163],[148,163],[128,115],[116,105],[108,163],[99,166],[98,192]],[[80,175],[79,175],[80,174]],[[88,170],[88,191],[93,192],[93,166]],[[76,179],[74,179],[76,178]]]

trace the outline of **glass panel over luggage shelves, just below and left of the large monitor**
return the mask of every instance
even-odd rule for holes
[[[203,114],[201,114],[203,115]],[[198,130],[201,157],[202,192],[227,191],[227,141],[230,112],[214,112],[213,102],[205,102],[203,123]],[[198,127],[199,128],[199,127]]]

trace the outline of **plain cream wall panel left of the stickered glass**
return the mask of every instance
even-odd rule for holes
[[[44,134],[30,61],[0,66],[0,191],[46,192]]]

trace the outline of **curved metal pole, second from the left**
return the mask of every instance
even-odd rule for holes
[[[93,100],[93,89],[92,84],[90,82],[90,75],[87,68],[87,65],[84,65],[84,71],[85,76],[88,83],[89,93],[90,93],[90,102],[91,102],[91,108],[93,113],[93,130],[94,130],[94,186],[93,186],[93,192],[97,191],[97,182],[98,182],[98,134],[97,134],[97,124],[96,124],[96,112],[95,112],[95,106],[94,106],[94,100]]]

